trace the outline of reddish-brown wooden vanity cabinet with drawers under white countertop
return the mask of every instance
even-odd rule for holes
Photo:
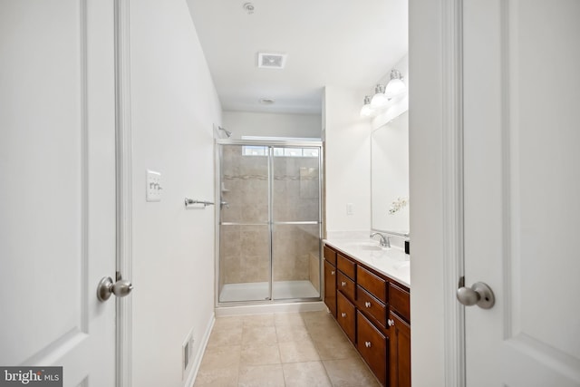
[[[334,296],[336,321],[383,386],[411,387],[409,288],[332,247],[324,247],[327,254],[334,262],[324,262],[324,302]]]

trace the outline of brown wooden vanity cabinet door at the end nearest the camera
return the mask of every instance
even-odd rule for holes
[[[389,313],[391,387],[411,387],[411,325]]]

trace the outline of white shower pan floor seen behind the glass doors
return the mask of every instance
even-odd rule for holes
[[[275,300],[294,298],[317,298],[320,293],[310,281],[275,281],[272,295]],[[263,301],[268,299],[267,282],[250,282],[244,284],[226,284],[219,294],[219,302]]]

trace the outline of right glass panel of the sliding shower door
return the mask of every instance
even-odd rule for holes
[[[320,298],[321,151],[272,153],[273,299]]]

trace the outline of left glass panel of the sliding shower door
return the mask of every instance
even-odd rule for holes
[[[270,298],[268,147],[221,145],[221,303]]]

